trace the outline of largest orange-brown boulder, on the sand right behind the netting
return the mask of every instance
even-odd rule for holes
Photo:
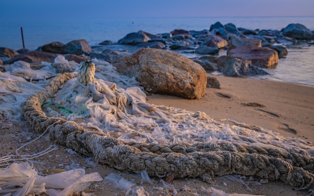
[[[147,92],[198,99],[205,95],[207,75],[191,59],[160,49],[143,48],[113,66],[135,77]]]

